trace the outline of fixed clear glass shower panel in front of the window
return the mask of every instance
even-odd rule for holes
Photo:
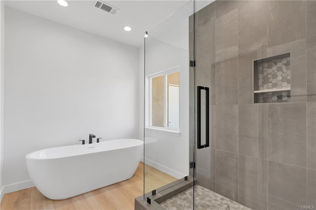
[[[193,71],[190,60],[194,59],[189,52],[189,17],[194,13],[194,2],[178,2],[179,10],[148,31],[145,38],[145,199],[190,177],[193,185],[193,154],[189,153],[194,117],[189,91],[193,86],[189,74]],[[189,200],[193,209],[193,196]]]

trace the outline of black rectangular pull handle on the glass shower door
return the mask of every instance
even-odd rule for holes
[[[201,145],[201,91],[205,90],[205,144]],[[209,146],[209,88],[197,86],[197,148]]]

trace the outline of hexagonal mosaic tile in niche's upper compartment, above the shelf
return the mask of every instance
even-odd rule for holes
[[[258,89],[290,88],[290,57],[263,62],[258,67]],[[274,85],[274,84],[277,85]]]

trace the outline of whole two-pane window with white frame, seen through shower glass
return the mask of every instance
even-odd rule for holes
[[[150,127],[179,130],[179,70],[149,76]]]

